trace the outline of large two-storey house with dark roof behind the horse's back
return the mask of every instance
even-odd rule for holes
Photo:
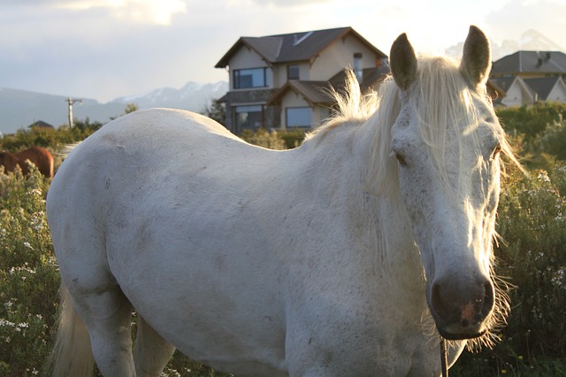
[[[317,126],[333,105],[326,90],[343,85],[346,69],[366,89],[389,68],[386,55],[352,27],[241,37],[216,67],[228,67],[229,92],[221,101],[234,133]]]

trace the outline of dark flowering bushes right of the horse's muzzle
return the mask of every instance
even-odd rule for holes
[[[512,171],[503,185],[495,253],[496,273],[514,286],[508,326],[493,350],[464,353],[453,374],[564,376],[566,166],[552,177]]]

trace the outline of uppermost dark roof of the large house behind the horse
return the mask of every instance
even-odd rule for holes
[[[268,64],[290,63],[300,61],[313,61],[317,55],[330,44],[347,36],[354,35],[368,49],[376,54],[376,57],[387,57],[386,54],[374,47],[362,35],[358,34],[352,27],[339,27],[335,29],[316,30],[311,32],[269,35],[264,37],[241,37],[232,48],[226,52],[215,65],[216,68],[225,68],[233,54],[241,47],[246,46],[256,51]]]

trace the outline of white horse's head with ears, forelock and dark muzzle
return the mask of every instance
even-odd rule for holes
[[[491,326],[496,302],[490,268],[499,155],[508,148],[486,95],[489,41],[471,26],[458,66],[417,59],[402,34],[390,59],[402,102],[391,148],[429,309],[442,336],[478,337]]]

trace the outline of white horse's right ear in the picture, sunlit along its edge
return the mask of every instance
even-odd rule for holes
[[[460,71],[470,80],[472,87],[485,84],[492,70],[492,52],[486,34],[478,26],[470,26],[470,32],[463,44]]]

